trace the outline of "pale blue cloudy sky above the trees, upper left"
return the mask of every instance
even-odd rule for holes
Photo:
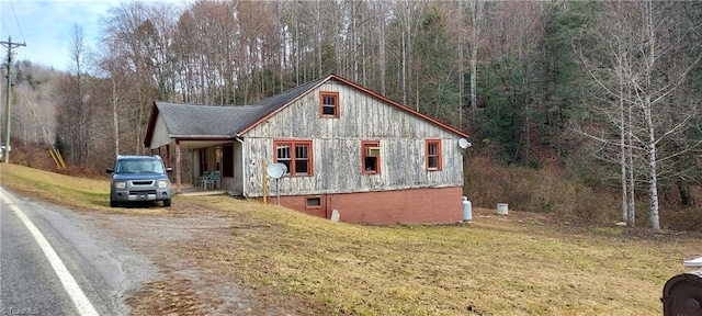
[[[0,41],[26,46],[13,48],[16,60],[30,60],[67,70],[70,64],[69,40],[73,25],[82,27],[84,44],[95,48],[100,38],[100,19],[118,5],[109,0],[0,0]],[[8,58],[0,47],[2,59]]]

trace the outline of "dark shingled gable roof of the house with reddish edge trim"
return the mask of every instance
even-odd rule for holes
[[[272,115],[275,115],[275,113],[282,111],[318,86],[332,79],[378,98],[382,101],[397,106],[412,115],[430,121],[462,137],[468,137],[468,135],[462,131],[451,127],[431,116],[399,104],[340,76],[329,75],[288,89],[253,105],[214,106],[154,101],[154,108],[151,108],[151,115],[149,117],[144,145],[146,147],[151,145],[150,143],[151,137],[154,136],[154,128],[156,127],[156,121],[159,115],[163,119],[171,138],[234,138],[236,136],[240,136]]]

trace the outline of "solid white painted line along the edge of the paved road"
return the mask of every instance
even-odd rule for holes
[[[39,248],[42,248],[42,251],[44,251],[44,256],[46,256],[46,259],[48,259],[52,268],[54,268],[56,275],[58,275],[58,279],[61,281],[64,289],[66,290],[66,292],[68,292],[68,296],[70,296],[70,300],[73,301],[73,305],[76,305],[78,314],[80,314],[81,316],[99,315],[98,311],[95,311],[95,307],[93,307],[90,303],[90,300],[88,300],[83,291],[80,290],[78,282],[76,282],[76,279],[73,279],[73,275],[71,275],[68,269],[66,269],[66,264],[64,264],[64,261],[61,261],[54,248],[52,248],[52,245],[49,245],[46,238],[44,238],[42,232],[39,232],[39,229],[37,229],[36,226],[32,224],[32,221],[30,221],[30,218],[24,215],[24,212],[22,212],[22,210],[20,210],[20,207],[14,204],[12,199],[5,195],[4,190],[0,190],[0,198],[2,198],[3,202],[9,205],[12,211],[14,211],[20,221],[22,221],[22,223],[24,223],[24,226],[26,226],[30,233],[32,233],[32,236],[34,236],[34,240],[36,240],[36,244],[38,244]]]

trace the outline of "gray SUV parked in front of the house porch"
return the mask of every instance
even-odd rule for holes
[[[163,206],[171,206],[171,181],[168,173],[171,168],[163,167],[159,156],[117,156],[110,185],[110,206],[120,203],[163,201]]]

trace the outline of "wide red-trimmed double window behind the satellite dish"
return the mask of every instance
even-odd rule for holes
[[[275,140],[275,162],[284,163],[291,176],[312,176],[310,140]]]

